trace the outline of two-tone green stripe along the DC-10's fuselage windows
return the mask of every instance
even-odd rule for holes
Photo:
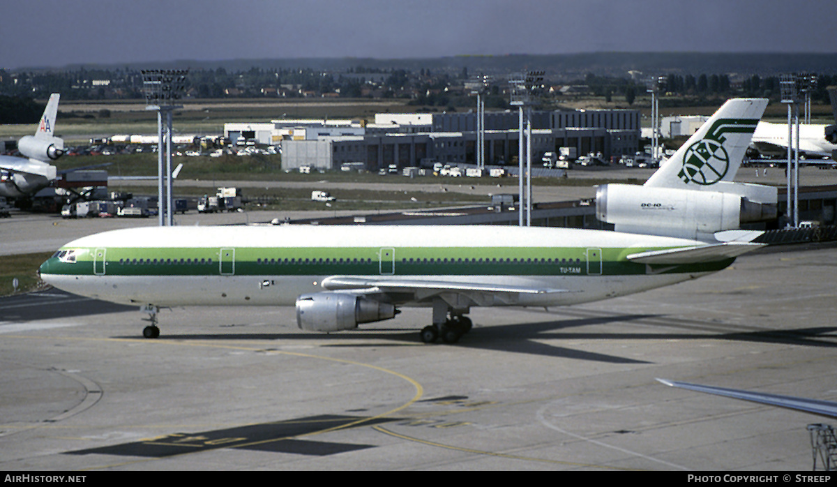
[[[638,250],[553,247],[110,248],[83,249],[73,263],[53,257],[42,266],[41,272],[111,276],[647,274],[645,264],[625,259],[625,255]],[[100,255],[96,256],[97,253]],[[711,272],[727,267],[733,260],[665,266],[665,269],[660,266],[660,272]]]

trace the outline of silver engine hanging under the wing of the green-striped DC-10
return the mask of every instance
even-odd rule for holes
[[[296,324],[308,331],[352,330],[359,323],[389,320],[397,313],[389,303],[349,293],[323,292],[296,299]]]

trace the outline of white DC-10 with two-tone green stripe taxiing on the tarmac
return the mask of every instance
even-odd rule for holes
[[[41,265],[69,292],[140,305],[157,337],[161,307],[295,305],[309,331],[432,309],[424,342],[454,343],[475,306],[571,305],[726,268],[760,245],[727,232],[776,190],[732,182],[767,100],[728,100],[644,186],[600,187],[616,231],[506,226],[156,227],[67,243]],[[773,198],[773,201],[769,201]],[[761,212],[764,213],[764,212]],[[759,214],[761,214],[759,213]],[[769,213],[769,212],[768,212]],[[717,236],[716,236],[717,235]]]

